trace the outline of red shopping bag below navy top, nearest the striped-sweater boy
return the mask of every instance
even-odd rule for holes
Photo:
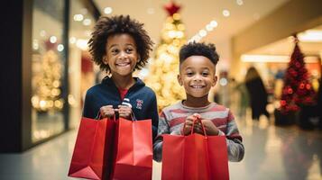
[[[120,118],[115,133],[115,164],[111,179],[152,179],[152,120]]]

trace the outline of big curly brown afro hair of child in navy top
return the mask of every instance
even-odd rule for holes
[[[143,23],[131,19],[129,15],[101,16],[94,27],[90,40],[88,40],[88,47],[92,60],[106,73],[111,71],[110,67],[103,62],[106,55],[107,38],[120,33],[127,33],[135,40],[137,52],[140,55],[135,69],[145,66],[150,50],[152,50],[153,42],[147,31],[143,29]]]

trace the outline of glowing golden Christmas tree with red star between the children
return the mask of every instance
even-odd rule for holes
[[[179,86],[179,48],[186,42],[185,26],[178,14],[179,5],[171,2],[164,6],[169,16],[161,31],[161,42],[155,49],[154,61],[149,66],[150,74],[145,83],[152,87],[157,95],[158,108],[185,98],[183,87]]]

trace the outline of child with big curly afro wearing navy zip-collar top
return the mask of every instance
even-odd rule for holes
[[[84,117],[94,119],[100,113],[102,118],[152,119],[155,138],[159,120],[156,96],[140,78],[133,77],[133,71],[147,63],[152,44],[143,23],[129,15],[99,18],[88,41],[89,52],[108,76],[87,90]]]

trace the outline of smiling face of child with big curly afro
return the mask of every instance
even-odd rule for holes
[[[127,76],[132,74],[139,55],[133,37],[126,33],[115,34],[107,38],[105,64],[112,74]]]

